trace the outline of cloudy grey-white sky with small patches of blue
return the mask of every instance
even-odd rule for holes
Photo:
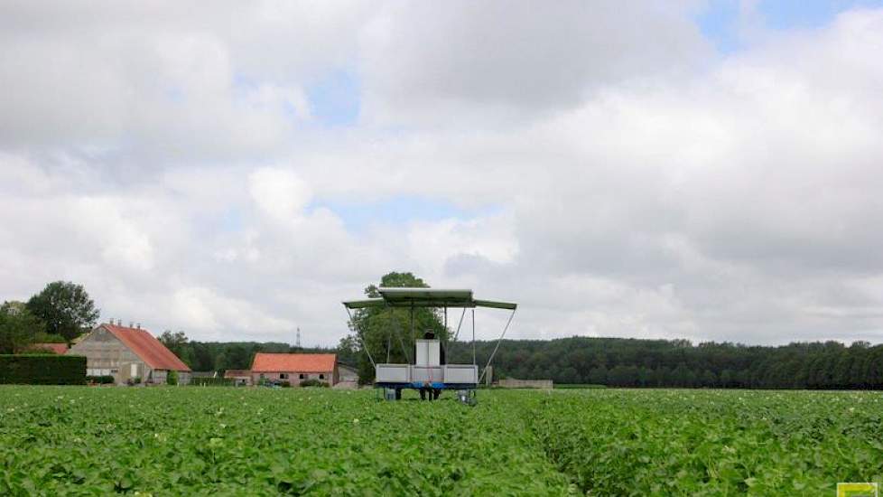
[[[3,2],[0,300],[333,345],[400,270],[512,337],[883,342],[881,4]]]

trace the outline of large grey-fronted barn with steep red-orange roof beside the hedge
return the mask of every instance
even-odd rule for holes
[[[116,383],[140,379],[162,384],[171,370],[178,371],[180,383],[190,382],[187,364],[140,327],[100,324],[67,353],[86,356],[86,374],[111,375]]]

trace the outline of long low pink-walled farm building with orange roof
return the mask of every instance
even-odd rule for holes
[[[288,381],[292,386],[302,381],[319,380],[333,386],[338,382],[337,354],[257,352],[251,365],[252,381]]]

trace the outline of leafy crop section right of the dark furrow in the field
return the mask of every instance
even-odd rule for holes
[[[876,392],[555,391],[522,404],[591,495],[833,495],[883,481]]]

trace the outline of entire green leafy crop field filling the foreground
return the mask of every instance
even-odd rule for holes
[[[834,495],[875,392],[0,387],[0,494]]]

